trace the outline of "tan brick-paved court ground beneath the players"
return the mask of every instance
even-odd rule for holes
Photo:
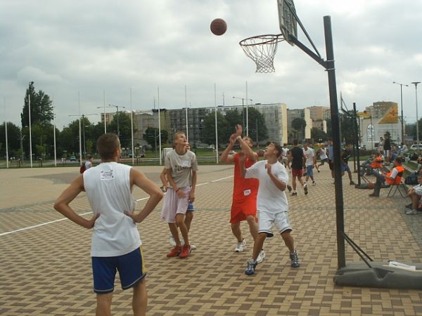
[[[338,287],[334,185],[326,166],[305,197],[289,197],[301,267],[290,268],[280,236],[267,239],[256,275],[243,274],[248,247],[234,253],[229,208],[232,166],[200,166],[191,242],[181,260],[166,258],[168,228],[158,208],[138,225],[148,269],[148,315],[422,315],[422,292]],[[142,167],[158,183],[158,166]],[[94,315],[90,230],[53,210],[79,168],[0,170],[0,315]],[[347,234],[376,260],[421,263],[422,214],[405,216],[408,199],[369,199],[369,190],[343,182]],[[146,195],[135,190],[136,199]],[[143,203],[143,200],[139,202]],[[72,206],[89,213],[81,195]],[[247,232],[247,225],[242,226]],[[418,235],[419,234],[419,235]],[[419,236],[419,237],[418,237]],[[347,262],[359,261],[349,246]],[[117,280],[118,282],[118,280]],[[117,283],[113,315],[131,315],[132,291]]]

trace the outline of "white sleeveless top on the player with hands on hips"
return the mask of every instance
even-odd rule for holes
[[[129,254],[141,246],[141,237],[132,218],[134,211],[129,173],[131,166],[103,162],[82,173],[84,187],[94,214],[100,213],[92,233],[91,256],[114,257]]]

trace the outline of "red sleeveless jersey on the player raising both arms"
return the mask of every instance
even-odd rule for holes
[[[241,175],[239,154],[234,155],[234,187],[233,187],[233,202],[243,202],[245,199],[257,198],[258,186],[260,180],[255,178],[245,179]],[[250,157],[245,159],[245,168],[249,168],[254,164],[254,161]]]

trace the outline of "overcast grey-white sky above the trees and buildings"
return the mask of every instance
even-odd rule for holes
[[[410,83],[422,81],[422,0],[296,0],[295,7],[324,58],[323,17],[331,15],[337,91],[349,107],[385,100],[400,108],[398,81],[409,84],[405,120],[416,120]],[[221,37],[210,32],[215,18],[228,25]],[[78,91],[81,114],[101,112],[103,91],[106,105],[129,109],[131,88],[133,110],[153,108],[158,87],[162,108],[186,100],[213,106],[214,84],[218,105],[238,105],[232,97],[245,98],[245,82],[252,103],[329,106],[327,74],[300,48],[281,42],[276,72],[261,74],[238,45],[279,33],[276,0],[0,0],[0,118],[20,125],[29,81],[54,95],[60,130],[77,119],[69,115],[78,114]],[[418,91],[422,105],[422,84]]]

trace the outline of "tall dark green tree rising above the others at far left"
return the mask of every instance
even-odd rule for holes
[[[20,120],[22,126],[30,125],[29,116],[29,101],[31,101],[31,124],[41,123],[50,124],[53,119],[53,105],[50,97],[39,90],[35,92],[34,81],[30,82],[30,86],[27,88],[22,113],[20,114]]]

